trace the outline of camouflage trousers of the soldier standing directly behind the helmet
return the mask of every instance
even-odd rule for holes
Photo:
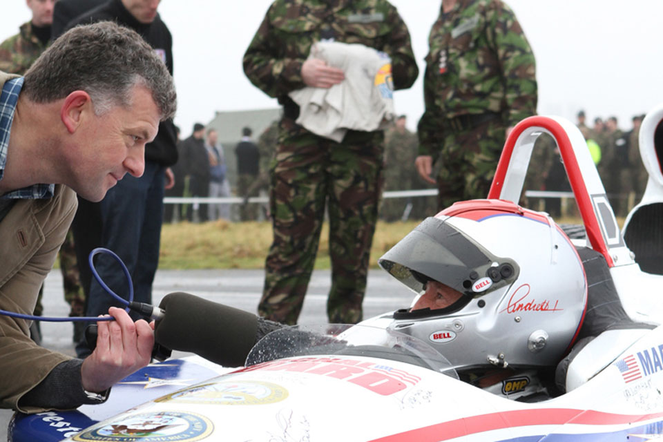
[[[506,126],[499,119],[444,137],[438,158],[439,210],[488,196],[505,141]]]

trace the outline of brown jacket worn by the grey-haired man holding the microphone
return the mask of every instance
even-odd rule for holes
[[[0,89],[11,77],[0,73]],[[17,200],[0,222],[0,309],[32,314],[39,287],[52,269],[76,206],[74,191],[58,184],[52,198]],[[19,410],[19,398],[53,367],[70,359],[32,342],[29,326],[27,320],[0,316],[2,408]]]

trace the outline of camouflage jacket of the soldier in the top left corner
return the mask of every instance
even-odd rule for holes
[[[0,44],[0,70],[23,75],[45,49],[46,45],[32,33],[30,22],[23,23],[17,35]]]

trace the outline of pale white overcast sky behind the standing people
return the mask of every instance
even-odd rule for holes
[[[160,14],[173,34],[178,111],[184,137],[215,111],[272,108],[276,100],[242,71],[246,50],[271,0],[162,0]],[[392,0],[410,28],[419,79],[394,95],[396,112],[416,127],[423,113],[423,57],[439,0]],[[663,102],[663,1],[507,0],[537,59],[538,112],[575,122],[615,115],[619,126]],[[0,39],[30,19],[24,0],[3,0]]]

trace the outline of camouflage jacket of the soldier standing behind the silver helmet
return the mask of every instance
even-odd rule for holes
[[[420,155],[441,148],[445,119],[495,112],[512,126],[536,113],[534,54],[501,0],[458,0],[440,12],[428,44]]]

